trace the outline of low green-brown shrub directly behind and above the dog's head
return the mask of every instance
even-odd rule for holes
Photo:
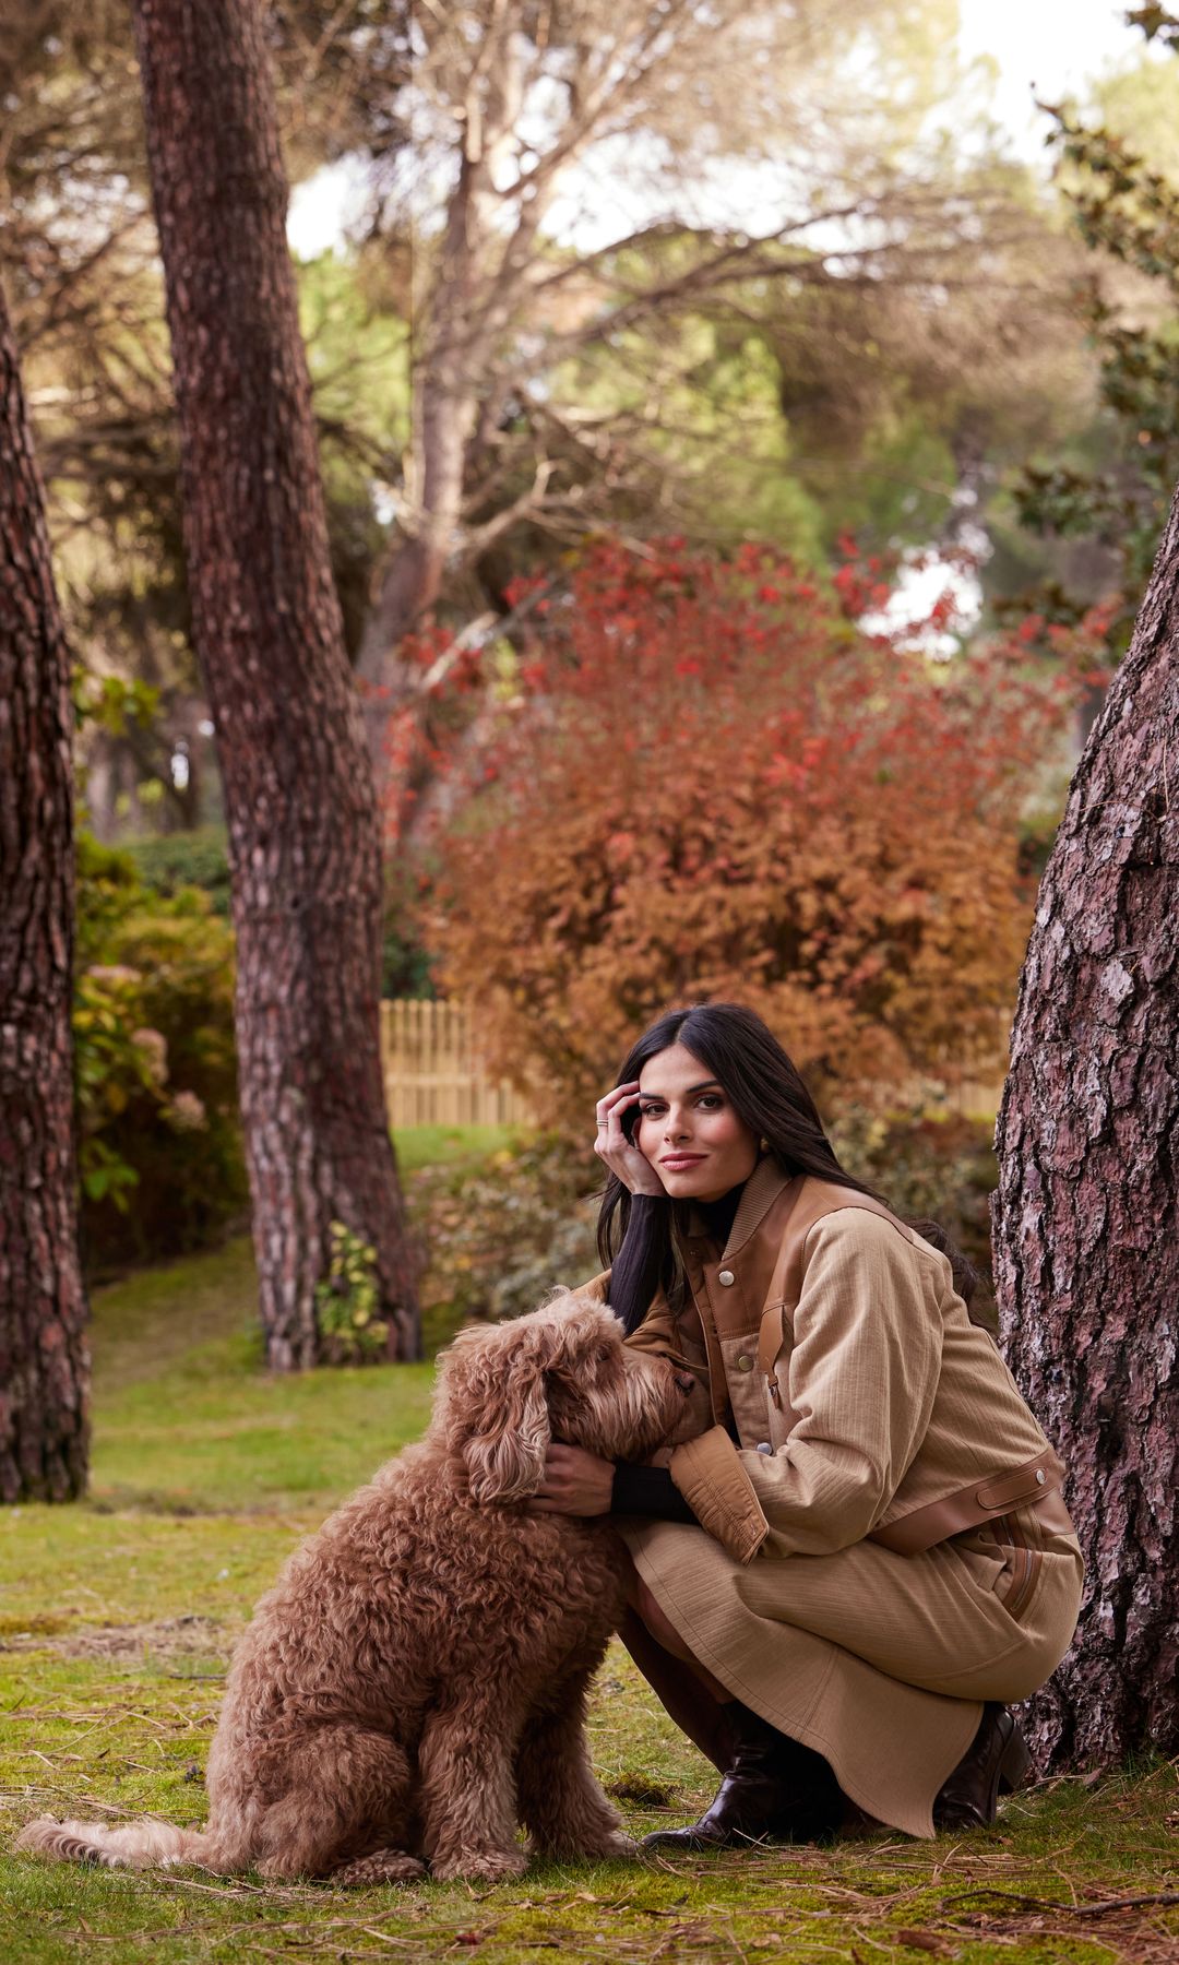
[[[409,1175],[430,1350],[468,1317],[519,1317],[554,1285],[597,1275],[593,1177],[552,1138],[505,1148],[477,1167]]]

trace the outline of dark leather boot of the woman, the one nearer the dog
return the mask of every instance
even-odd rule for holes
[[[751,1841],[815,1841],[831,1833],[843,1796],[823,1757],[778,1733],[741,1700],[727,1700],[721,1712],[733,1751],[711,1806],[700,1822],[656,1829],[639,1847],[700,1851]]]

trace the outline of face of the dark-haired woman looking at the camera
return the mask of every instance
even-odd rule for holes
[[[758,1161],[757,1134],[682,1043],[658,1051],[639,1073],[635,1146],[674,1201],[719,1201]]]

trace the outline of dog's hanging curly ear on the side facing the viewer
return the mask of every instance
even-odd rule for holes
[[[525,1501],[540,1486],[550,1440],[548,1340],[550,1332],[521,1319],[517,1328],[485,1336],[462,1358],[462,1387],[454,1385],[448,1401],[450,1436],[474,1501]]]

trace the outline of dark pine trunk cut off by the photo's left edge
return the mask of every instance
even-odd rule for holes
[[[45,501],[0,293],[0,1501],[86,1486],[73,1116],[73,713]]]

